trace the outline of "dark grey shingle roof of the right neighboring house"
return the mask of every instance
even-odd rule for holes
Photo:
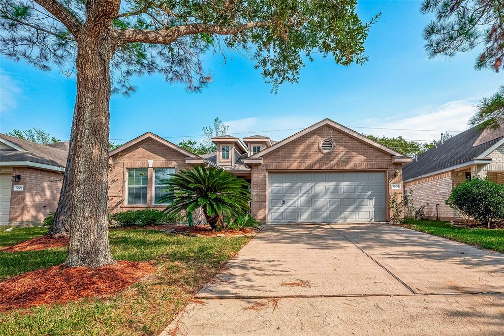
[[[403,166],[403,180],[435,175],[473,163],[490,163],[487,155],[504,144],[504,126],[498,129],[469,128],[431,148]],[[473,162],[473,161],[477,162]],[[488,162],[485,162],[488,161]]]

